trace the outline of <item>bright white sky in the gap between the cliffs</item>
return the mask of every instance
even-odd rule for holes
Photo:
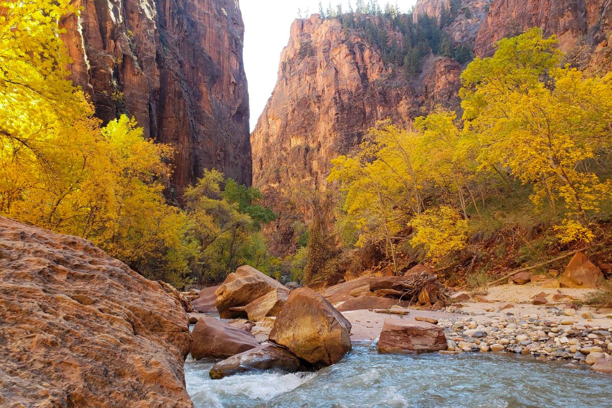
[[[322,1],[327,9],[329,0]],[[332,6],[339,0],[332,1]],[[355,7],[356,0],[351,0]],[[365,0],[367,2],[367,0]],[[403,12],[414,6],[416,0],[389,0],[397,2]],[[384,9],[387,0],[378,0]],[[348,0],[343,0],[343,10],[348,10]],[[251,130],[255,128],[259,115],[276,84],[278,62],[283,47],[289,42],[291,23],[297,18],[297,10],[302,16],[319,12],[319,0],[240,0],[242,18],[245,24],[244,65],[247,72],[248,94],[251,110]]]

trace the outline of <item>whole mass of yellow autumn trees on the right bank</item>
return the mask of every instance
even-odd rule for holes
[[[381,122],[332,161],[357,246],[381,243],[395,264],[396,237],[411,228],[412,247],[440,261],[515,181],[531,189],[532,212],[550,210],[560,245],[595,239],[612,187],[612,74],[561,67],[556,45],[540,29],[501,40],[461,75],[461,119],[435,109],[408,130]]]

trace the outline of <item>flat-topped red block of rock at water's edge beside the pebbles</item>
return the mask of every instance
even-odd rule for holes
[[[441,328],[411,319],[387,319],[378,339],[378,352],[416,354],[446,350]]]

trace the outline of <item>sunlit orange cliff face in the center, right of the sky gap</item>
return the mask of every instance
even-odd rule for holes
[[[401,48],[402,34],[388,20],[362,18]],[[436,104],[457,104],[456,61],[432,56],[420,78],[409,81],[365,36],[364,29],[318,15],[291,26],[277,85],[251,135],[253,182],[281,215],[267,231],[274,253],[291,247],[297,218],[288,217],[283,198],[292,185],[326,188],[330,160],[356,147],[379,120],[409,125]]]

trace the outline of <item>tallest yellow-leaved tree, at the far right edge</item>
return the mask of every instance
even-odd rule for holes
[[[484,147],[483,162],[499,161],[532,184],[536,205],[548,199],[556,209],[562,202],[561,242],[589,242],[589,214],[611,189],[591,168],[612,139],[612,76],[584,78],[578,70],[554,68],[556,43],[532,29],[468,65],[461,76],[463,118]]]

